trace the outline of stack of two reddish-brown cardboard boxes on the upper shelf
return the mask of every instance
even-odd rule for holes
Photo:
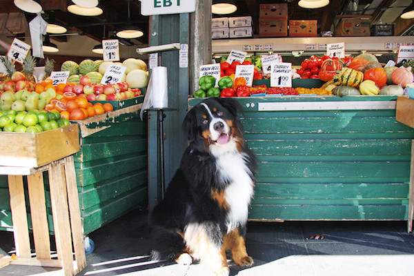
[[[288,35],[288,4],[260,4],[259,37]]]

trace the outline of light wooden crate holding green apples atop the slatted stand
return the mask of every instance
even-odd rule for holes
[[[37,168],[79,151],[79,126],[39,133],[0,132],[0,166]]]

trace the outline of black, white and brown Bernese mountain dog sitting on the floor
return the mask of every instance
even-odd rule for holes
[[[213,275],[228,275],[226,251],[250,266],[245,235],[257,161],[244,143],[235,99],[208,98],[186,115],[188,147],[150,213],[152,259],[205,262]]]

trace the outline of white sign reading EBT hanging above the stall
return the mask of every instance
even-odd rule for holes
[[[196,0],[142,0],[142,15],[175,14],[195,11]]]

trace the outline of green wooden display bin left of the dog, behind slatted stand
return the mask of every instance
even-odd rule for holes
[[[72,121],[79,125],[80,150],[73,157],[84,235],[147,204],[147,124],[139,119],[140,108]],[[43,178],[49,190],[48,174]],[[27,189],[26,177],[23,182]],[[0,175],[0,230],[12,230],[9,201],[7,176]],[[52,221],[47,194],[46,206]]]

